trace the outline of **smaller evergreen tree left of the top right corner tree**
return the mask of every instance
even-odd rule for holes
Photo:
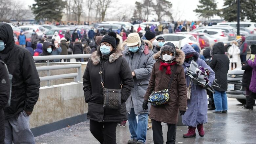
[[[219,15],[215,0],[199,0],[199,3],[201,5],[197,5],[198,9],[194,10],[196,13],[199,13],[199,17],[210,19],[214,15]]]

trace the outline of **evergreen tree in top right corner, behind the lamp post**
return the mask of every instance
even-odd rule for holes
[[[225,0],[222,17],[228,22],[237,21],[237,0]],[[256,0],[240,0],[240,20],[256,22]]]

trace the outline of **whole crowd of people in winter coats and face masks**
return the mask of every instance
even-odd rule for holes
[[[159,28],[161,30],[162,27]],[[0,86],[4,88],[0,89],[0,121],[4,123],[0,125],[0,143],[35,144],[29,129],[29,115],[38,99],[40,79],[33,55],[91,53],[89,59],[76,61],[88,61],[83,75],[85,102],[88,103],[87,118],[90,119],[90,132],[101,144],[116,144],[117,125],[121,123],[120,126],[125,126],[126,120],[131,135],[128,144],[146,143],[148,122],[152,123],[154,144],[163,143],[161,123],[168,125],[166,143],[174,144],[178,114],[182,116],[182,123],[188,126],[188,132],[182,135],[184,138],[195,137],[196,129],[203,137],[203,125],[207,123],[207,94],[214,100],[214,113],[228,112],[225,93],[227,72],[230,62],[236,67],[238,54],[245,70],[243,86],[246,88],[247,104],[243,108],[253,109],[256,97],[256,45],[251,45],[251,56],[246,60],[245,38],[242,38],[239,47],[232,42],[229,49],[231,57],[228,57],[222,42],[203,52],[199,46],[188,44],[179,50],[173,43],[164,44],[164,37],[156,38],[156,31],[148,28],[144,35],[139,31],[126,32],[124,29],[119,33],[103,29],[96,34],[94,28],[90,31],[88,37],[82,36],[78,30],[74,33],[67,31],[65,35],[61,31],[55,32],[51,42],[43,37],[39,42],[25,43],[27,51],[14,44],[11,26],[0,24]],[[37,40],[37,37],[33,39]],[[64,62],[70,62],[70,59]],[[192,80],[188,74],[190,67],[195,65],[201,72],[207,73],[204,86]],[[12,75],[11,83],[8,74]],[[214,87],[215,93],[212,93],[209,88],[215,79],[219,87]],[[155,94],[158,94],[157,99],[166,98],[165,103],[150,104],[152,101],[149,99]],[[10,95],[11,105],[5,107]],[[107,98],[116,95],[119,98]],[[111,108],[116,104],[117,108]]]

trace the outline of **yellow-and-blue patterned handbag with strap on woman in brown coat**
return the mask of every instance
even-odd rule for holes
[[[158,105],[163,105],[165,103],[167,103],[170,100],[170,96],[169,96],[169,88],[171,86],[173,77],[174,77],[174,73],[176,72],[177,66],[174,66],[174,71],[172,73],[171,76],[171,80],[169,82],[168,88],[161,90],[161,91],[157,91],[157,92],[152,92],[148,98],[148,102],[151,103],[152,106],[158,106]]]

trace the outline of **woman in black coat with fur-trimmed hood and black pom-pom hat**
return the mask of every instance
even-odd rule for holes
[[[134,85],[131,69],[117,50],[116,34],[113,33],[103,37],[100,49],[91,55],[83,76],[85,102],[89,103],[87,118],[90,119],[90,131],[100,144],[116,144],[117,122],[127,120],[125,101]],[[103,108],[100,64],[105,88],[120,89],[122,82],[120,109]]]

